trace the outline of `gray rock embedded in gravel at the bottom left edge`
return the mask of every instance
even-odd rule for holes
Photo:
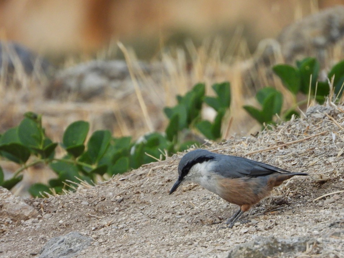
[[[92,238],[84,237],[78,232],[50,239],[42,248],[40,258],[71,258],[88,247]]]

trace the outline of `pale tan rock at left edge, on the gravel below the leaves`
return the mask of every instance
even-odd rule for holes
[[[36,209],[26,204],[21,197],[14,196],[1,186],[0,207],[0,218],[10,218],[12,221],[27,220],[38,214]]]

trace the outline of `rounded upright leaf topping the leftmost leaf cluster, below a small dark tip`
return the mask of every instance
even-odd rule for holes
[[[39,124],[30,118],[24,118],[18,126],[19,140],[25,146],[40,149],[42,147],[42,135],[43,132]]]

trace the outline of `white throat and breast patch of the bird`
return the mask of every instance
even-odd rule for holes
[[[200,184],[205,189],[216,193],[216,181],[218,177],[211,172],[213,166],[212,163],[212,161],[205,161],[193,165],[189,173],[185,175],[185,181],[191,181]]]

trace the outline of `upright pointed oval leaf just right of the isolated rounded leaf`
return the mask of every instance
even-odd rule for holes
[[[87,152],[92,164],[97,163],[109,147],[111,133],[108,130],[95,131],[87,143]]]

